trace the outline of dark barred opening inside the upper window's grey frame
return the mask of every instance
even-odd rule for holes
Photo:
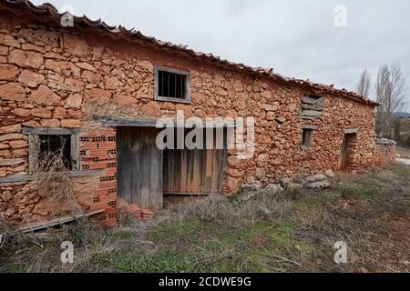
[[[158,96],[176,99],[188,99],[187,97],[188,76],[170,73],[167,71],[158,71]]]

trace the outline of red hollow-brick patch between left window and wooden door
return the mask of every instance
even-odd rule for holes
[[[102,170],[96,195],[87,210],[104,210],[103,226],[117,225],[117,132],[115,128],[88,131],[80,136],[82,170]]]

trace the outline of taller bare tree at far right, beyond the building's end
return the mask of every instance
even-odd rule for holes
[[[399,64],[382,65],[377,75],[375,93],[377,102],[376,130],[379,135],[392,138],[396,112],[405,105],[405,79]]]

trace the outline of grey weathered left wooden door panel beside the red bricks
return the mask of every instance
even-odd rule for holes
[[[128,203],[154,210],[162,208],[162,151],[158,130],[118,127],[118,196]]]

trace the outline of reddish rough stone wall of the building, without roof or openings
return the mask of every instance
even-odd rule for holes
[[[87,196],[91,200],[83,205],[87,210],[105,210],[102,219],[107,225],[115,220],[115,143],[101,150],[95,147],[97,139],[94,144],[92,140],[93,136],[115,136],[115,129],[96,123],[94,115],[175,116],[177,110],[183,110],[187,118],[255,117],[255,155],[238,160],[230,151],[224,186],[227,194],[243,183],[266,185],[282,177],[338,170],[343,134],[349,129],[357,130],[357,169],[383,165],[393,155],[380,154],[375,143],[373,105],[131,45],[92,30],[80,34],[74,29],[68,32],[52,25],[23,25],[14,23],[18,19],[7,19],[0,27],[0,177],[28,175],[23,127],[79,128],[82,169],[102,171],[82,178],[83,185],[96,186],[96,192]],[[154,100],[155,65],[190,72],[190,105]],[[321,119],[302,119],[301,98],[306,94],[325,97]],[[305,125],[316,128],[309,149],[301,146]],[[77,183],[77,196],[84,192],[82,184]],[[43,199],[35,190],[27,194],[30,185],[1,185],[0,209],[15,223],[24,223],[23,215],[28,213],[33,213],[29,220],[50,215],[36,211],[36,207],[42,208]],[[19,196],[22,188],[23,196],[30,197],[27,201],[6,203],[7,197]],[[56,207],[53,211],[54,216],[61,214]]]

